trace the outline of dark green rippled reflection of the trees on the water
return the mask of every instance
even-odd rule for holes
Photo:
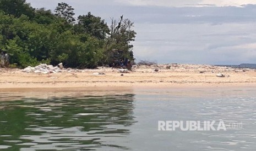
[[[26,98],[0,102],[1,150],[128,149],[111,141],[126,137],[134,94]]]

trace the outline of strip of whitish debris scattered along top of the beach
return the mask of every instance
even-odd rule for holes
[[[160,65],[133,65],[132,71],[122,68],[111,68],[111,67],[97,67],[96,69],[75,69],[75,68],[64,68],[62,63],[59,63],[58,66],[40,64],[36,67],[26,67],[22,70],[27,73],[58,73],[58,72],[88,72],[92,75],[101,75],[108,72],[118,72],[118,73],[129,73],[129,72],[141,72],[141,73],[162,73],[162,72],[191,72],[191,73],[230,73],[230,72],[247,72],[247,71],[256,71],[256,69],[249,68],[232,68],[225,66],[214,66],[214,65],[189,65],[189,64],[178,64],[178,63],[169,63],[169,64],[160,64]],[[1,72],[1,71],[0,71]],[[227,76],[226,76],[227,77]]]

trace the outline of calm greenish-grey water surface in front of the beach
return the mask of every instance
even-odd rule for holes
[[[0,150],[256,150],[256,89],[0,92]],[[158,131],[159,120],[243,123]]]

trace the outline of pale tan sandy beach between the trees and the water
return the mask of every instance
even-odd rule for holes
[[[100,73],[100,74],[99,74]],[[101,74],[104,73],[104,74]],[[216,74],[225,77],[216,77]],[[123,75],[121,75],[123,74]],[[58,73],[27,73],[22,69],[0,68],[0,89],[34,88],[216,88],[256,86],[255,69],[238,69],[211,65],[167,64],[133,66],[129,73],[117,68],[63,69]]]

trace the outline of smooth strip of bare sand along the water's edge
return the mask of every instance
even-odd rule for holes
[[[118,90],[118,89],[214,89],[214,88],[256,88],[256,82],[213,82],[213,83],[177,83],[177,82],[24,82],[24,83],[1,83],[0,91],[16,90]]]

